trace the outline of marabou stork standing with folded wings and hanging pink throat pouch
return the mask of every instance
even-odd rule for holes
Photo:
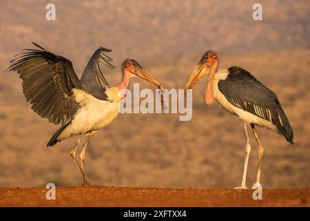
[[[258,133],[254,125],[282,133],[291,144],[293,144],[293,128],[289,124],[289,119],[287,119],[276,93],[260,83],[247,70],[237,66],[218,70],[218,64],[218,56],[213,50],[205,52],[189,77],[185,92],[187,89],[193,88],[201,77],[209,74],[205,104],[210,105],[215,99],[225,110],[242,119],[246,141],[245,165],[241,186],[236,187],[236,189],[247,189],[247,163],[251,151],[247,135],[247,123],[251,124],[251,129],[258,144],[258,171],[255,184],[257,188],[260,184],[260,167],[262,166],[264,149],[258,139]]]

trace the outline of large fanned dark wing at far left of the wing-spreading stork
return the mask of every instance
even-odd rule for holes
[[[54,124],[68,124],[79,108],[72,93],[81,88],[72,62],[41,46],[25,49],[11,61],[8,70],[17,71],[23,80],[23,93],[31,108]]]

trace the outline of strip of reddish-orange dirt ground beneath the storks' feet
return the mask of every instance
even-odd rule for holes
[[[161,189],[107,186],[57,187],[56,200],[46,200],[47,189],[0,188],[0,206],[310,206],[310,189],[254,190]]]

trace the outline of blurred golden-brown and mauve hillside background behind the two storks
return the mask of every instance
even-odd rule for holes
[[[262,4],[263,21],[252,19]],[[56,21],[45,19],[47,3]],[[208,50],[220,68],[241,66],[274,90],[293,126],[295,145],[259,128],[265,147],[265,188],[310,187],[309,1],[0,1],[0,186],[81,183],[70,157],[76,138],[46,147],[59,128],[25,102],[16,73],[4,73],[31,41],[70,59],[81,75],[99,46],[111,48],[121,80],[123,59],[132,57],[167,88],[183,88]],[[141,81],[143,87],[151,87]],[[205,106],[205,79],[194,88],[193,118],[119,115],[94,135],[86,171],[94,184],[171,188],[232,188],[242,177],[244,136],[238,117],[218,104]],[[249,131],[251,134],[251,131]],[[247,186],[255,182],[257,147],[251,135]]]

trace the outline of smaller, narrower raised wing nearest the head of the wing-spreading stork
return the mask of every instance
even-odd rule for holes
[[[110,61],[113,61],[113,59],[105,55],[104,52],[111,52],[111,50],[100,47],[94,52],[83,71],[81,86],[87,91],[87,93],[90,93],[90,95],[96,97],[97,99],[107,100],[107,95],[105,95],[105,86],[103,84],[107,86],[110,85],[107,83],[107,80],[103,75],[100,64],[103,63],[109,68],[115,67],[110,64]]]

